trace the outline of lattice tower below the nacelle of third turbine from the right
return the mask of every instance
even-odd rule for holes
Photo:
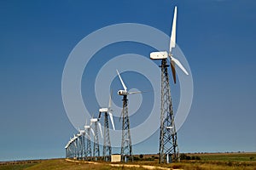
[[[111,143],[108,128],[108,112],[104,113],[104,145],[103,145],[103,158],[105,161],[111,161]]]

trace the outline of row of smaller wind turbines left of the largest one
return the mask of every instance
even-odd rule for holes
[[[123,118],[123,139],[124,143],[122,143],[123,151],[121,156],[124,158],[124,161],[127,161],[129,156],[125,155],[125,145],[129,144],[131,146],[131,134],[130,134],[130,123],[129,123],[129,116],[128,116],[128,108],[127,108],[127,95],[129,94],[140,94],[142,92],[128,92],[127,87],[125,86],[125,82],[123,81],[122,77],[117,71],[119,80],[123,86],[123,90],[119,90],[118,94],[123,96],[123,111],[122,111],[122,118]],[[109,96],[108,107],[99,109],[99,114],[97,117],[92,116],[90,118],[90,125],[85,122],[84,130],[79,130],[77,135],[74,135],[73,138],[69,140],[65,149],[66,149],[66,157],[68,158],[76,158],[76,159],[83,159],[83,160],[98,160],[101,157],[100,154],[100,144],[99,144],[99,135],[98,131],[101,134],[101,137],[104,140],[103,144],[103,153],[102,157],[104,161],[110,161],[110,156],[112,155],[112,147],[111,147],[111,140],[109,135],[109,119],[112,124],[113,130],[115,130],[114,122],[113,122],[113,114],[111,109],[112,103],[112,91],[111,95]],[[102,124],[100,122],[101,118],[104,118],[104,129],[102,133]],[[128,123],[128,124],[127,124]],[[125,132],[129,131],[129,133]],[[91,139],[91,135],[93,139]],[[129,139],[127,140],[126,137]],[[86,139],[86,140],[85,140]],[[91,150],[91,141],[93,141],[93,150]],[[130,152],[129,152],[130,153]],[[132,153],[132,152],[131,152]]]

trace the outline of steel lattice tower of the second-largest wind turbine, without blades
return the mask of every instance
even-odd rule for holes
[[[130,133],[130,122],[128,115],[128,99],[124,95],[123,98],[123,124],[122,124],[122,143],[121,143],[121,160],[128,161],[132,159],[132,147],[131,147],[131,133]]]

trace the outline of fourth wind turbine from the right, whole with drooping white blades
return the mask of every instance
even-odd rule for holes
[[[100,129],[100,133],[102,136],[102,125],[101,122],[99,122],[98,118],[91,118],[90,119],[90,127],[94,125],[94,130],[90,128],[91,133],[94,136],[94,143],[93,143],[93,156],[96,159],[96,156],[100,156],[100,145],[99,145],[99,136],[98,136],[98,128]]]

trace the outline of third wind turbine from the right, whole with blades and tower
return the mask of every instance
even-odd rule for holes
[[[111,113],[111,97],[112,97],[112,91],[111,94],[109,95],[109,101],[108,101],[108,108],[101,108],[100,114],[99,114],[99,119],[102,116],[102,113],[104,113],[104,145],[103,145],[103,158],[105,161],[110,161],[110,156],[112,154],[112,148],[111,148],[111,142],[110,142],[110,136],[109,136],[109,126],[108,126],[108,116],[110,117],[110,121],[112,123],[113,130],[114,124],[113,124],[113,114]]]

